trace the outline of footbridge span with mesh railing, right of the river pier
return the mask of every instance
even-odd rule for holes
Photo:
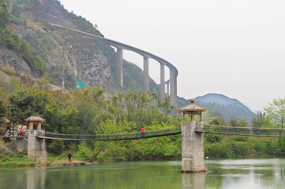
[[[219,133],[247,136],[285,137],[285,128],[250,128],[250,127],[226,127],[204,124],[195,124],[196,132]]]

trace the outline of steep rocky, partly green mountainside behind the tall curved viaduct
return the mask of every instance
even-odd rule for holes
[[[65,89],[75,89],[76,81],[85,81],[87,87],[98,83],[111,94],[125,93],[129,89],[143,91],[143,71],[125,59],[124,87],[117,84],[117,56],[110,45],[83,39],[73,31],[49,23],[104,37],[96,24],[73,11],[68,12],[58,0],[6,2],[11,14],[9,30],[27,42],[34,51],[31,54],[38,56],[44,65],[38,69],[38,65],[25,61],[23,57],[29,55],[21,54],[18,50],[21,43],[11,38],[13,43],[8,41],[8,45],[2,45],[0,41],[0,62],[4,67],[13,67],[21,75],[28,74],[34,79],[42,77]],[[160,94],[160,87],[151,78],[149,89]]]

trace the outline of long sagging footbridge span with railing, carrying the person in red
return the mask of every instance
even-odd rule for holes
[[[181,133],[181,126],[170,127],[157,130],[144,131],[144,136],[141,132],[133,133],[118,133],[108,135],[66,135],[56,134],[50,132],[36,132],[36,137],[50,138],[50,139],[64,139],[64,140],[129,140],[129,139],[140,139],[167,136]]]

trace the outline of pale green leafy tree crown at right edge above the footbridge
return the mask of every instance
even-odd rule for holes
[[[263,107],[263,110],[267,112],[272,124],[278,128],[284,128],[285,124],[285,98],[274,98],[272,103],[268,102],[268,105]]]

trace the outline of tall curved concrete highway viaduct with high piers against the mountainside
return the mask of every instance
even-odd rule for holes
[[[171,100],[172,105],[177,106],[178,70],[170,62],[168,62],[165,59],[158,57],[154,54],[151,54],[149,52],[146,52],[144,50],[141,50],[139,48],[135,48],[135,47],[127,45],[127,44],[117,42],[115,40],[99,37],[99,36],[92,35],[92,34],[82,32],[79,30],[74,30],[71,28],[60,26],[57,24],[52,24],[52,23],[49,23],[49,24],[51,24],[52,26],[57,26],[60,28],[72,30],[72,31],[80,34],[82,38],[90,39],[90,40],[94,40],[94,41],[101,41],[101,42],[104,42],[106,44],[109,44],[109,45],[115,47],[117,49],[117,83],[121,87],[123,87],[123,50],[130,50],[130,51],[136,52],[136,53],[140,54],[141,56],[143,56],[144,92],[146,93],[146,95],[148,95],[148,91],[149,91],[148,59],[152,58],[152,59],[158,61],[158,63],[160,63],[160,99],[161,100],[163,100],[163,98],[165,97],[165,84],[167,84],[167,83],[165,82],[165,77],[164,77],[164,66],[167,66],[170,70],[170,79],[168,82],[169,84],[167,85],[167,87],[168,87],[167,88],[167,95],[170,95],[170,100]]]

